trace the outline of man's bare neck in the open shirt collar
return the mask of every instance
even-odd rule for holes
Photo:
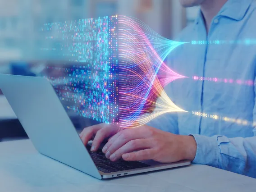
[[[205,18],[205,25],[207,33],[210,30],[212,19],[219,13],[220,9],[228,0],[205,0],[201,4],[201,11]]]

